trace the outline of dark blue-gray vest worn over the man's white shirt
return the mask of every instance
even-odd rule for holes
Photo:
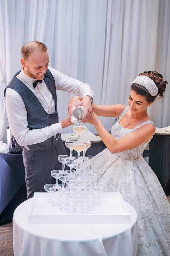
[[[47,73],[44,75],[44,82],[46,83],[50,93],[53,96],[55,102],[55,114],[48,114],[37,97],[32,93],[32,91],[25,85],[21,80],[19,80],[16,76],[20,73],[20,71],[15,74],[12,81],[8,84],[6,88],[12,88],[21,96],[26,111],[27,111],[27,121],[28,121],[28,128],[32,129],[40,129],[52,124],[58,123],[58,113],[57,113],[57,95],[56,95],[56,87],[55,87],[55,80],[50,72],[47,69]],[[6,88],[4,90],[4,96],[6,93]],[[61,134],[58,138],[59,134],[56,136],[52,136],[51,138],[37,144],[28,145],[29,150],[45,150],[48,148],[52,148],[58,145],[61,141]],[[58,140],[56,140],[58,138]]]

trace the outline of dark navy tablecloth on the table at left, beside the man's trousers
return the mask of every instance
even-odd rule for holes
[[[13,218],[17,206],[27,200],[22,154],[0,154],[0,225]]]

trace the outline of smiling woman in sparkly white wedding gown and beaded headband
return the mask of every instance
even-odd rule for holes
[[[170,256],[170,204],[141,156],[155,132],[147,108],[158,95],[163,97],[166,84],[161,74],[145,71],[131,85],[129,106],[94,105],[91,118],[86,120],[107,146],[95,157],[98,182],[107,183],[107,192],[120,192],[138,214],[138,256]],[[97,115],[117,117],[112,135]]]

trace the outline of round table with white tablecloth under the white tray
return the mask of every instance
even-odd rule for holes
[[[85,225],[28,224],[32,203],[14,212],[14,256],[136,256],[137,214],[129,203],[130,224]]]

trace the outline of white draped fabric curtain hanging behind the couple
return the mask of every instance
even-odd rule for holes
[[[169,0],[0,0],[0,140],[7,126],[3,89],[21,69],[24,43],[44,42],[50,66],[89,83],[95,104],[127,104],[130,84],[145,70],[162,73],[170,85],[169,24]],[[73,95],[57,96],[62,120]],[[149,109],[157,127],[170,125],[169,101],[167,89]],[[100,119],[108,131],[115,122]]]

